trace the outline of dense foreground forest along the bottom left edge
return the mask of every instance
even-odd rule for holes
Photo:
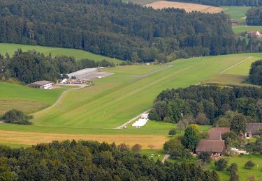
[[[196,164],[162,164],[128,145],[96,141],[0,146],[0,168],[0,180],[219,180]]]

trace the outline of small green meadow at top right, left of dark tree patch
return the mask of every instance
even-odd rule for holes
[[[251,7],[248,6],[222,6],[224,13],[231,16],[231,19],[235,19],[239,24],[246,24],[245,17],[247,10]]]

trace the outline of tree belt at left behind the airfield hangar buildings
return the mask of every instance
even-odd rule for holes
[[[68,74],[84,68],[112,67],[114,63],[109,61],[95,62],[89,59],[75,61],[68,56],[45,56],[34,50],[22,52],[18,49],[12,57],[8,54],[0,54],[0,78],[6,81],[10,78],[18,79],[26,84],[34,81],[48,80],[57,81],[61,74]],[[69,77],[71,78],[71,77]]]

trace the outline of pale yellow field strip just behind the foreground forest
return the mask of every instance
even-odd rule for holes
[[[103,129],[101,129],[101,133]],[[142,145],[143,149],[148,149],[148,145],[154,145],[154,149],[163,148],[163,143],[168,140],[167,136],[160,135],[101,135],[101,134],[51,134],[51,133],[36,133],[36,132],[13,132],[3,131],[0,132],[0,143],[8,144],[23,144],[23,145],[36,145],[37,143],[49,143],[54,140],[95,140],[99,142],[112,143],[117,145],[125,143],[133,146],[137,143]]]

